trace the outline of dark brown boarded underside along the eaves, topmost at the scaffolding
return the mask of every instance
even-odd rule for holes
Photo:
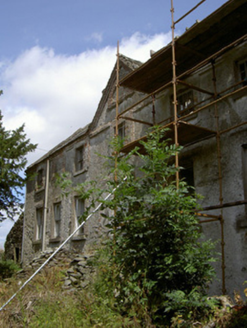
[[[178,37],[175,42],[177,76],[246,35],[246,17],[247,1],[229,0]],[[123,78],[120,85],[148,94],[152,93],[172,80],[171,63],[170,43]]]

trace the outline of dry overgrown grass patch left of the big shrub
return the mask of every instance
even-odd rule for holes
[[[43,269],[0,312],[0,327],[135,327],[127,324],[129,319],[112,310],[108,300],[95,297],[92,290],[64,290],[65,270],[61,267]],[[11,278],[0,284],[1,306],[23,282]]]

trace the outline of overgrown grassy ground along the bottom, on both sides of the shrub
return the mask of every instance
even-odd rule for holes
[[[0,312],[0,327],[3,328],[155,328],[152,323],[145,326],[134,314],[121,315],[114,305],[114,297],[106,298],[95,293],[93,286],[82,291],[64,290],[63,277],[66,267],[44,268],[16,297]],[[0,283],[1,306],[19,289],[24,280],[11,278]],[[193,326],[180,318],[174,318],[171,327],[247,327],[247,310],[222,311],[216,308],[211,318],[215,325],[195,322]],[[162,327],[162,326],[160,326]],[[157,327],[158,328],[158,327]]]

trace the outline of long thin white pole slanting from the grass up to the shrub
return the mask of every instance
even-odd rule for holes
[[[127,177],[125,177],[123,179],[123,181],[118,185],[116,186],[111,193],[109,193],[106,198],[104,199],[104,201],[106,201],[108,198],[111,197],[111,195],[121,186],[121,184],[127,179]],[[91,216],[93,216],[94,213],[96,213],[100,207],[103,205],[103,202],[101,202],[94,210],[92,213],[90,213],[88,215],[88,217],[85,219],[85,221],[83,221],[76,229],[75,231],[67,238],[65,239],[65,241],[51,254],[51,256],[31,275],[31,277],[26,280],[24,282],[24,284],[17,290],[17,292],[10,297],[10,299],[0,308],[0,311],[2,311],[6,305],[8,305],[15,297],[16,295],[39,273],[39,271],[41,269],[43,269],[43,267],[60,251],[60,249],[77,233],[78,230],[81,229],[81,227],[83,227],[83,225],[85,224],[86,221],[88,221]]]

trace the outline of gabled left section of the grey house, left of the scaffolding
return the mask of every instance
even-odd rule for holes
[[[120,76],[125,76],[141,63],[120,56]],[[41,251],[56,248],[78,227],[78,217],[87,204],[76,193],[63,197],[56,185],[57,174],[70,173],[72,185],[94,180],[103,175],[104,159],[98,154],[109,154],[109,141],[115,129],[116,67],[113,69],[93,121],[77,130],[38,161],[28,167],[35,178],[26,187],[25,220],[23,234],[23,264],[27,264]],[[121,88],[119,106],[138,99],[138,93]],[[126,107],[126,104],[124,105]],[[123,133],[131,135],[132,125],[124,124]],[[127,142],[127,140],[126,140]],[[102,235],[102,218],[94,216],[83,231],[67,245],[81,250],[86,241],[94,243]]]

